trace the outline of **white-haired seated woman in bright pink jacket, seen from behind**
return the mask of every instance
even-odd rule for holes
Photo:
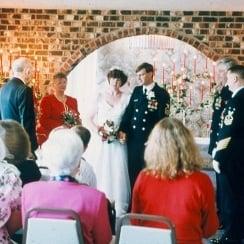
[[[83,151],[83,143],[73,130],[59,128],[50,133],[42,145],[42,159],[51,178],[24,186],[22,221],[27,211],[36,207],[72,209],[80,215],[86,244],[108,244],[112,234],[104,193],[79,184],[74,178]]]

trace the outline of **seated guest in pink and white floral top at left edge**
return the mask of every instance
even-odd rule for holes
[[[5,156],[6,147],[0,138],[0,243],[10,244],[9,236],[21,227],[22,182],[18,169],[3,161]]]

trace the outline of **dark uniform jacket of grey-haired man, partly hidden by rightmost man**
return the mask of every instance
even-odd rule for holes
[[[216,147],[216,140],[218,138],[217,132],[220,126],[221,113],[224,110],[225,105],[231,98],[232,92],[228,86],[224,86],[220,92],[217,92],[213,101],[213,116],[211,123],[210,144],[208,153],[211,155],[214,147]]]

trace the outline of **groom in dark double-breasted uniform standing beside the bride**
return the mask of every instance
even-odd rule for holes
[[[122,117],[119,138],[127,141],[128,170],[131,188],[144,167],[144,148],[154,125],[169,115],[170,96],[153,81],[153,66],[141,64],[137,69],[141,86],[137,86]]]

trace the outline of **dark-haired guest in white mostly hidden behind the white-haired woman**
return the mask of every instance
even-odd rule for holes
[[[81,138],[85,151],[91,138],[90,131],[81,125],[76,125],[72,127],[72,129]],[[80,170],[76,175],[76,178],[80,183],[87,184],[88,186],[95,188],[97,187],[97,178],[94,173],[94,170],[92,166],[83,157],[81,158]]]

